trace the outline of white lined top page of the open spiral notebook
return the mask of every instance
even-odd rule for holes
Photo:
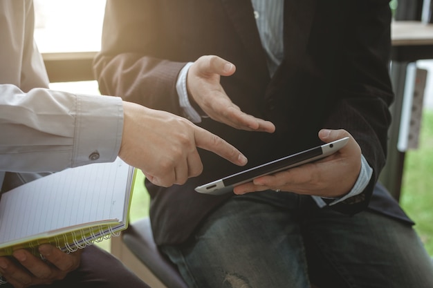
[[[89,222],[126,220],[130,176],[129,165],[118,158],[66,169],[3,193],[0,244]]]

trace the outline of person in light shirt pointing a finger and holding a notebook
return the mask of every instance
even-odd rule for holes
[[[120,97],[49,90],[33,39],[34,21],[33,1],[0,1],[2,191],[44,173],[112,162],[118,156],[158,185],[183,184],[203,169],[197,147],[246,164],[234,146],[183,117]],[[0,257],[6,286],[147,287],[95,247],[66,254],[42,245],[39,251],[44,260],[25,250],[15,251],[13,258]]]

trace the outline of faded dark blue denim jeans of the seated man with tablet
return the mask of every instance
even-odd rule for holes
[[[293,193],[234,196],[189,241],[162,250],[196,288],[433,287],[432,260],[409,224]]]

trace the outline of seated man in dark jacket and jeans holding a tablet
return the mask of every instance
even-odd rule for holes
[[[194,191],[240,171],[205,151],[183,185],[147,175],[156,243],[191,287],[433,287],[413,223],[376,184],[394,97],[390,21],[386,0],[107,1],[103,94],[190,117],[248,167],[350,137],[237,196]]]

